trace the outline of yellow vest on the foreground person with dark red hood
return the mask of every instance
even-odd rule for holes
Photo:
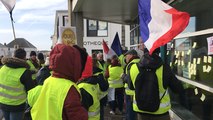
[[[72,86],[79,92],[77,85],[70,80],[55,77],[47,78],[31,109],[32,119],[62,120],[64,101]]]

